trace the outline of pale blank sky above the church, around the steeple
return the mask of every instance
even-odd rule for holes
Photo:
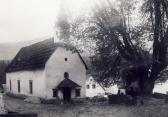
[[[94,0],[64,1],[72,15],[87,12],[94,4]],[[53,37],[60,4],[60,0],[0,0],[0,43]]]

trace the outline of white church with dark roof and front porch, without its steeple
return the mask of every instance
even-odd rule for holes
[[[23,47],[7,68],[7,91],[46,99],[83,98],[87,66],[70,45],[44,40]]]

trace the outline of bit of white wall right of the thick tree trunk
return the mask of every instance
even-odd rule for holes
[[[168,81],[166,81],[165,83],[155,84],[153,92],[167,94],[167,92],[168,92]]]

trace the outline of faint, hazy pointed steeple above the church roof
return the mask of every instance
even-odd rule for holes
[[[55,24],[56,38],[64,43],[69,43],[70,24],[67,16],[65,0],[60,0],[59,13]]]

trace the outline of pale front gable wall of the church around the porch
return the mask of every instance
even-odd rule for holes
[[[68,60],[65,61],[65,58]],[[69,73],[69,78],[81,86],[81,97],[85,97],[86,69],[77,53],[59,47],[52,54],[45,67],[47,98],[53,97],[53,88],[64,79],[64,73]],[[71,97],[73,98],[74,91]]]

